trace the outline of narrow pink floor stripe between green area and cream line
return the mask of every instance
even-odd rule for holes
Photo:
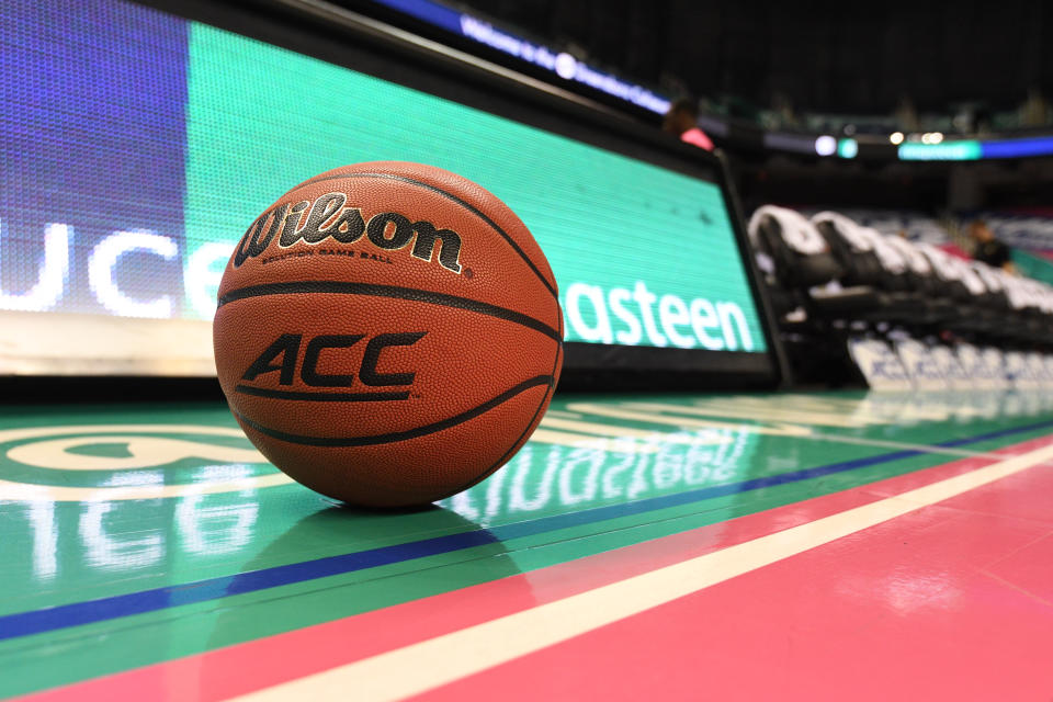
[[[1051,441],[1053,439],[1028,441],[998,453],[1024,453]],[[987,457],[954,461],[523,575],[25,695],[20,700],[224,700],[758,539],[992,462]]]

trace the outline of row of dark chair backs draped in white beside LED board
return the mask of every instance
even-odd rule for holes
[[[996,346],[1053,346],[1053,287],[883,235],[836,212],[758,208],[749,239],[785,329],[893,326]]]

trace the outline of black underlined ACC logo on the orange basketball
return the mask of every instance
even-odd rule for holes
[[[246,385],[239,383],[235,389],[246,395],[257,395],[260,397],[281,397],[285,399],[318,399],[318,400],[341,400],[341,401],[367,401],[386,399],[408,399],[409,389],[394,390],[390,388],[406,387],[414,384],[417,372],[401,369],[397,373],[380,372],[377,364],[381,362],[381,355],[385,349],[390,347],[411,347],[420,341],[427,331],[406,331],[396,333],[382,333],[373,337],[365,343],[365,352],[362,360],[358,362],[355,369],[358,373],[321,373],[318,370],[319,359],[322,353],[331,352],[336,349],[350,349],[365,339],[361,333],[327,333],[319,335],[307,341],[303,354],[303,362],[299,362],[299,349],[304,346],[303,335],[283,333],[269,346],[258,359],[256,359],[245,373],[242,381],[250,383],[258,378],[273,381],[270,373],[278,373],[278,385],[293,385],[296,378],[297,365],[299,367],[299,380],[309,387],[355,387],[358,383],[371,388],[388,388],[384,390],[362,392],[362,393],[326,393],[320,390],[313,392],[291,392],[273,387],[260,387],[257,385]],[[332,365],[331,363],[329,365]],[[385,363],[389,366],[389,363]],[[355,382],[358,377],[358,383]]]

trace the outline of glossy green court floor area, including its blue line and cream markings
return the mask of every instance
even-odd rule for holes
[[[3,408],[0,697],[526,573],[1051,428],[1041,394],[562,395],[486,482],[429,509],[366,512],[290,483],[220,404]]]

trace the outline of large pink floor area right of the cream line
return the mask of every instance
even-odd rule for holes
[[[1045,464],[421,699],[1048,701],[1051,496]]]

